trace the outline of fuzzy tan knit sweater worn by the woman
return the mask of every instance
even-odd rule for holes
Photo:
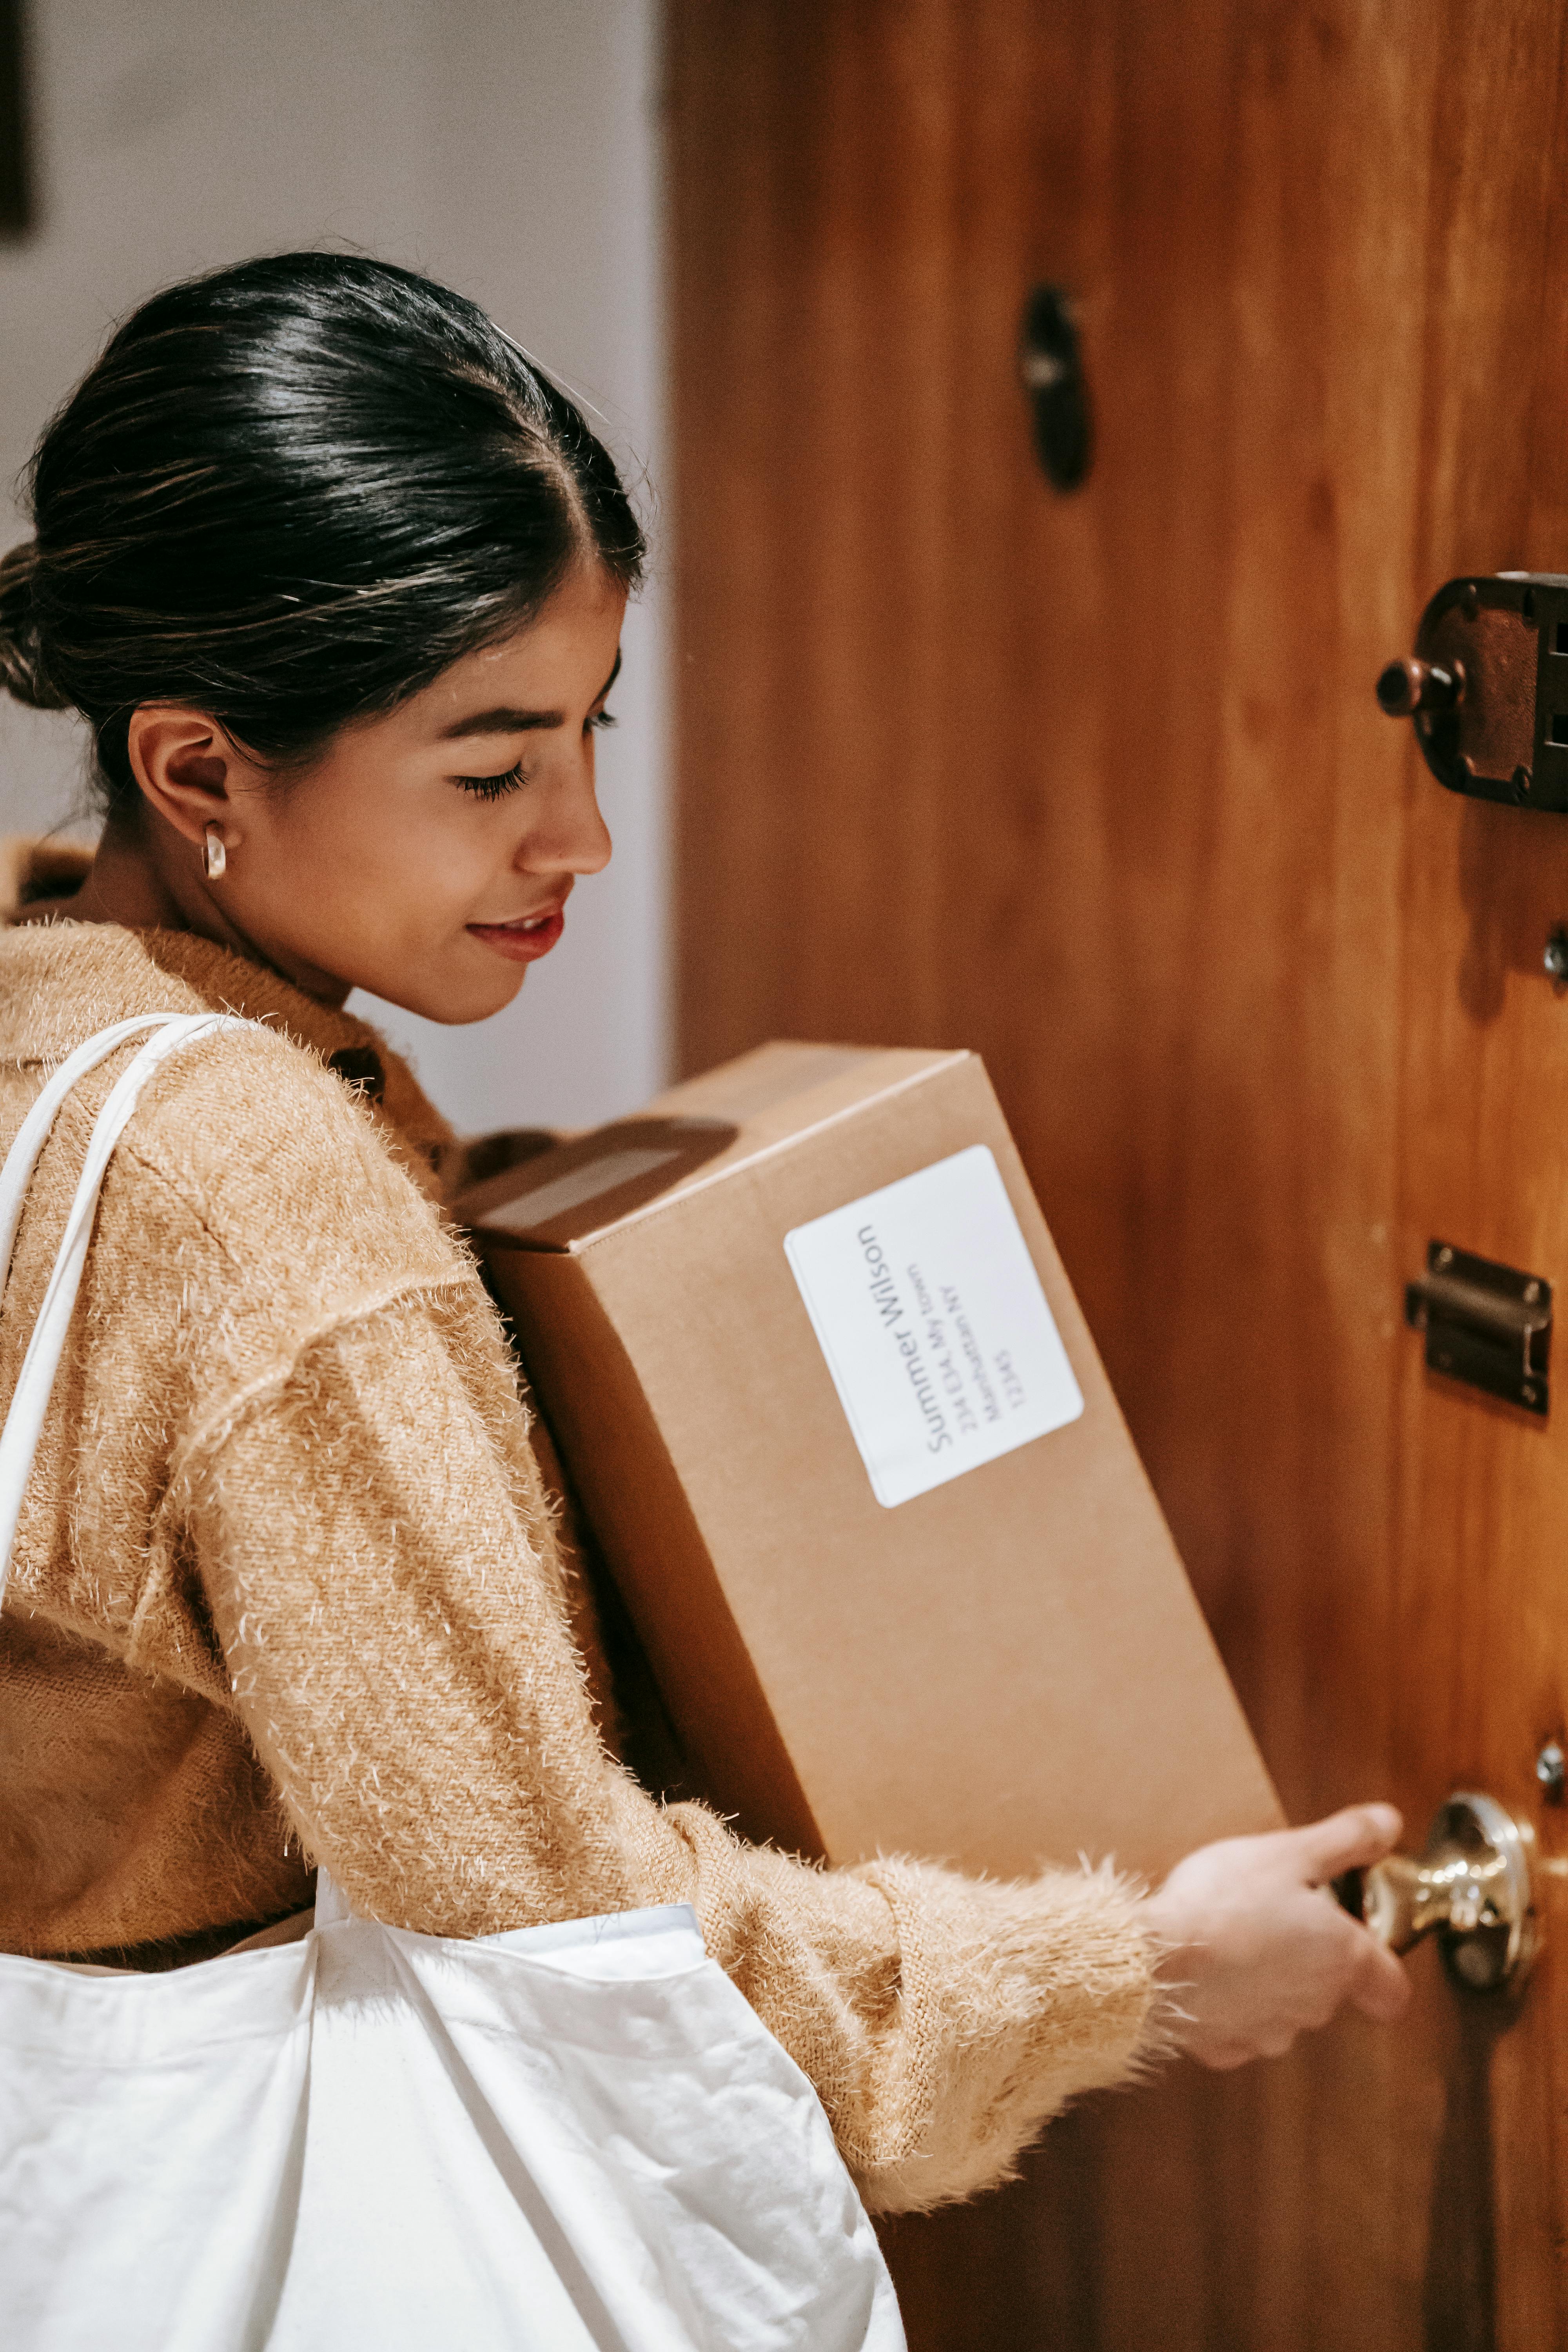
[[[12,915],[59,870],[7,844]],[[167,1964],[308,1903],[315,1860],[435,1936],[689,1900],[872,2206],[1004,2178],[1135,2063],[1133,1891],[825,1872],[644,1795],[597,1731],[517,1371],[440,1216],[449,1131],[374,1033],[186,934],[12,924],[0,1148],[75,1044],[202,1007],[256,1030],[167,1063],[110,1162],[16,1534],[0,1947]],[[129,1051],[45,1148],[0,1402]]]

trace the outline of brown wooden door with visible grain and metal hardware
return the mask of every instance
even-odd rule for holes
[[[1420,1952],[1403,2030],[896,2225],[917,2352],[1568,2343],[1568,1397],[1401,1324],[1429,1237],[1568,1282],[1568,818],[1448,797],[1371,694],[1450,574],[1568,572],[1563,26],[670,7],[684,1063],[980,1047],[1293,1813],[1420,1844],[1479,1785],[1544,1856],[1519,2006]]]

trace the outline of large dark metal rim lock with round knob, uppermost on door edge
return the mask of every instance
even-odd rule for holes
[[[1568,809],[1568,574],[1497,572],[1436,590],[1415,652],[1378,677],[1450,793]]]

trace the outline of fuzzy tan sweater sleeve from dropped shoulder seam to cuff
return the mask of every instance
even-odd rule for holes
[[[484,1936],[691,1903],[884,2211],[1006,2178],[1135,2065],[1152,1955],[1112,1872],[818,1870],[607,1755],[477,1282],[315,1338],[190,1442],[169,1508],[249,1738],[369,1917]]]

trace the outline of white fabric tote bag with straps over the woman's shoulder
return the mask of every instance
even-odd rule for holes
[[[0,1435],[0,1590],[99,1185],[158,1063],[125,1021],[0,1171],[0,1282],[68,1089],[94,1129]],[[7,2352],[900,2352],[799,2067],[686,1905],[456,1943],[348,1915],[165,1976],[0,1955]]]

